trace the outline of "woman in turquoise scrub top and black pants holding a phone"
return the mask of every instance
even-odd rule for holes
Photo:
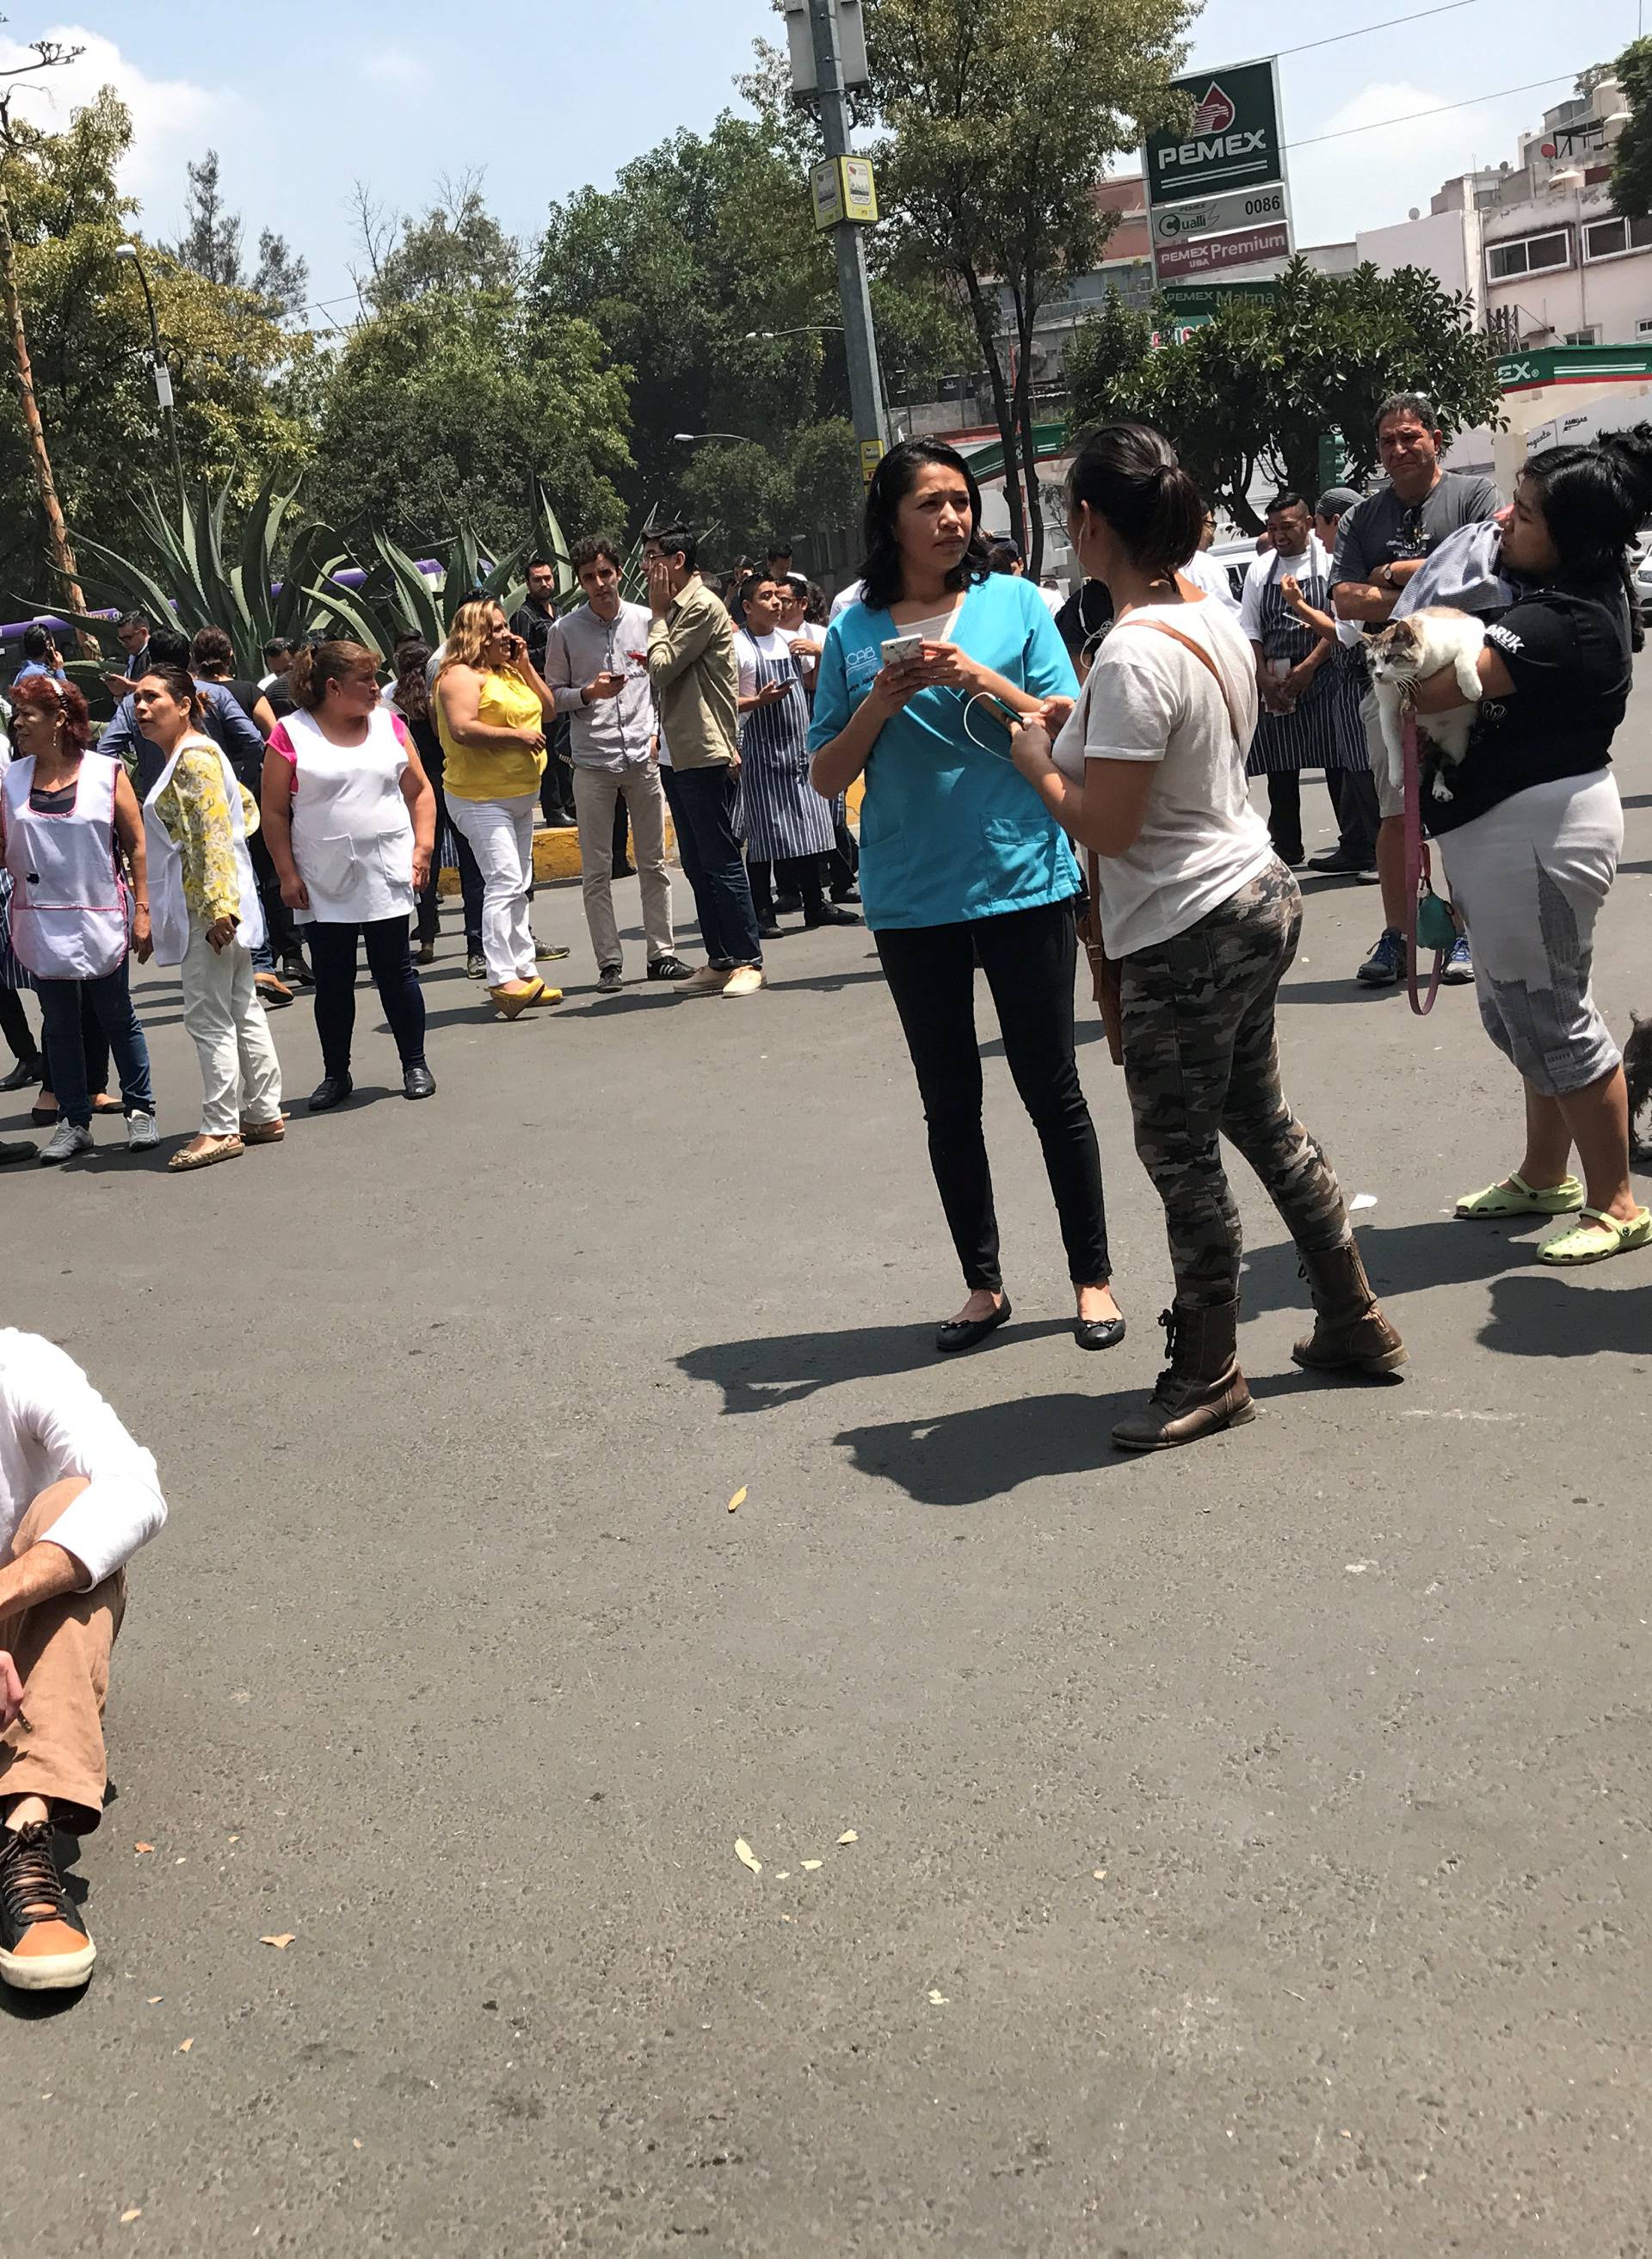
[[[1078,865],[1008,759],[997,698],[1019,714],[1076,691],[1044,599],[988,574],[981,492],[938,441],[904,441],[866,495],[863,594],[832,626],[816,678],[814,784],[859,775],[861,901],[929,1123],[929,1159],[970,1294],[936,1349],[972,1349],[1010,1317],[981,1134],[974,967],[1044,1148],[1083,1349],[1112,1349],[1096,1130],[1073,1059]]]

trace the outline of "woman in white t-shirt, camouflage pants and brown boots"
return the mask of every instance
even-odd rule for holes
[[[1250,806],[1257,671],[1243,630],[1182,578],[1200,495],[1168,441],[1107,425],[1069,481],[1069,535],[1105,581],[1114,628],[1083,698],[1015,734],[1015,764],[1098,858],[1101,928],[1119,962],[1123,1071],[1137,1152],[1164,1202],[1175,1301],[1171,1364],[1112,1430],[1164,1450],[1254,1419],[1238,1369],[1238,1211],[1227,1136],[1297,1242],[1318,1324],[1311,1371],[1406,1362],[1376,1308],[1331,1163],[1279,1087],[1275,1003],[1297,953],[1302,895]]]

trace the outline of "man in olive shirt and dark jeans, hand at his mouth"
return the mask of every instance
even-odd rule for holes
[[[698,538],[667,526],[644,544],[649,569],[649,680],[671,745],[667,800],[682,872],[694,888],[705,967],[680,996],[755,996],[764,944],[746,858],[734,834],[739,770],[739,666],[734,623],[696,569]]]

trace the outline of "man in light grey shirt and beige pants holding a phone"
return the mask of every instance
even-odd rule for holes
[[[615,809],[631,815],[649,980],[689,980],[692,974],[676,956],[671,935],[664,793],[649,687],[649,612],[619,594],[624,558],[608,533],[574,542],[572,565],[585,603],[556,621],[540,671],[556,694],[556,712],[569,725],[585,926],[597,953],[597,987],[612,996],[624,980],[612,897]]]

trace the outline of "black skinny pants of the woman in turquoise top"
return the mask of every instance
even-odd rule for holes
[[[999,1220],[992,1211],[988,1143],[981,1132],[981,1046],[974,1030],[976,956],[992,989],[1021,1105],[1044,1148],[1044,1168],[1076,1285],[1103,1285],[1107,1211],[1101,1197],[1096,1127],[1073,1059],[1071,901],[1006,910],[956,926],[884,928],[875,935],[929,1123],[929,1166],[970,1288],[1003,1285]]]

